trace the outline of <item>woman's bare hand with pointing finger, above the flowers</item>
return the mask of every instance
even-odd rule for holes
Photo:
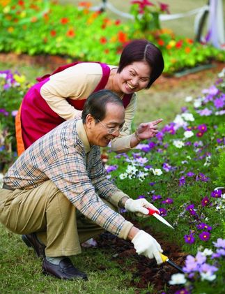
[[[159,132],[157,130],[157,124],[160,124],[163,119],[156,119],[153,122],[145,122],[139,124],[139,127],[137,128],[137,135],[140,140],[145,140],[149,138],[155,137],[155,135]]]

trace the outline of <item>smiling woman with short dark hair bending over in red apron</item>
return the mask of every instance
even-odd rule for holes
[[[112,140],[112,150],[126,152],[141,140],[153,137],[162,119],[141,123],[132,134],[130,130],[137,105],[136,92],[148,89],[163,68],[162,53],[155,45],[134,40],[124,47],[118,67],[75,62],[38,78],[38,83],[24,96],[16,117],[18,154],[65,120],[81,117],[86,98],[100,89],[114,91],[125,107],[125,124],[118,138]],[[114,124],[106,127],[114,130]]]

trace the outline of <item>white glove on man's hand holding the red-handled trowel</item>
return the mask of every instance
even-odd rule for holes
[[[125,207],[125,210],[127,210],[129,212],[137,212],[138,216],[148,215],[148,210],[146,209],[146,207],[151,208],[152,210],[157,210],[157,208],[154,205],[149,203],[144,198],[137,199],[137,200],[133,200],[133,199],[129,198],[125,202],[124,207]],[[160,211],[157,210],[157,212],[160,212]]]

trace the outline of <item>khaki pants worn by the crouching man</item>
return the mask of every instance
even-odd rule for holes
[[[30,190],[0,189],[0,221],[17,234],[36,232],[46,245],[46,256],[52,257],[81,253],[80,243],[104,231],[76,210],[51,181]]]

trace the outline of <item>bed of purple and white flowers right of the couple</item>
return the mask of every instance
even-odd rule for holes
[[[215,188],[225,183],[225,70],[219,76],[199,97],[187,97],[187,107],[155,140],[128,154],[109,152],[106,166],[118,187],[149,200],[175,227],[138,220],[189,253],[185,275],[171,277],[171,284],[181,285],[177,294],[204,293],[210,284],[223,293],[225,188]]]

